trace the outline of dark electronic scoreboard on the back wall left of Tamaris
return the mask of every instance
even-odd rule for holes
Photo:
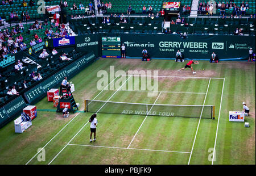
[[[121,58],[120,37],[102,37],[102,57]]]

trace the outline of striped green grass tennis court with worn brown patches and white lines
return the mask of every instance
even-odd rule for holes
[[[110,66],[126,72],[158,70],[156,96],[148,97],[148,90],[122,90],[125,84],[115,90],[97,90],[97,72],[109,72]],[[55,110],[45,97],[36,104],[38,117],[27,132],[14,133],[13,123],[0,129],[0,164],[255,164],[255,64],[200,61],[193,66],[195,75],[188,69],[177,72],[183,66],[170,60],[101,58],[70,80],[75,83],[73,96],[80,103],[79,112],[64,119],[61,113],[40,111]],[[127,76],[126,81],[131,78]],[[89,143],[88,120],[93,112],[83,112],[86,99],[214,105],[215,119],[203,119],[204,111],[201,119],[98,113],[96,141]],[[246,117],[250,128],[228,121],[229,111],[242,110],[243,101],[250,107]],[[45,150],[46,161],[38,161],[39,148]],[[212,163],[208,158],[214,148]]]

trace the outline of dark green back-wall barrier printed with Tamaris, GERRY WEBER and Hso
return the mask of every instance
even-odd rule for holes
[[[175,58],[179,49],[189,59],[209,60],[214,52],[220,59],[237,60],[247,58],[250,47],[255,50],[254,37],[226,35],[188,35],[183,39],[172,34],[96,33],[76,36],[75,46],[78,51],[94,51],[96,56],[102,56],[101,37],[114,36],[121,37],[129,57],[141,57],[142,49],[146,48],[155,58]]]

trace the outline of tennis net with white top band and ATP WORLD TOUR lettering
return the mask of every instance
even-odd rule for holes
[[[85,107],[86,112],[203,119],[214,119],[215,109],[213,105],[143,104],[90,99],[85,101]]]

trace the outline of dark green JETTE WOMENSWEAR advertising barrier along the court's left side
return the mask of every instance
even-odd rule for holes
[[[60,83],[63,81],[64,77],[72,78],[77,73],[81,72],[86,66],[96,59],[93,52],[85,55],[78,60],[72,62],[65,68],[61,69],[59,72],[53,74],[48,79],[40,82],[38,85],[32,87],[26,91],[24,99],[22,96],[15,98],[13,101],[7,103],[5,106],[0,108],[0,128],[2,128],[9,121],[16,118],[16,116],[22,112],[23,108],[28,104],[35,104],[39,102],[47,94],[49,89],[54,87],[59,87]],[[26,101],[25,101],[26,100]]]

